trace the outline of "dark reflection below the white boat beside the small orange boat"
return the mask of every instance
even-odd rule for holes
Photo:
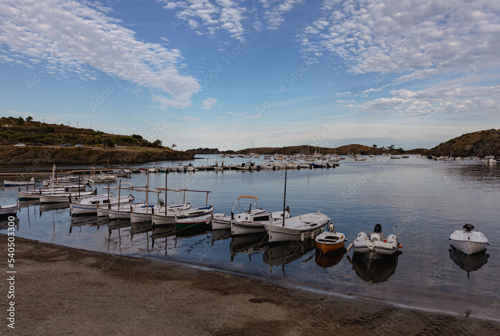
[[[262,260],[269,266],[285,265],[294,260],[302,258],[315,247],[314,240],[308,239],[304,242],[293,241],[283,245],[267,245]]]

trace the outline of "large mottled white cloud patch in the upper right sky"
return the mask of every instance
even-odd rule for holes
[[[353,73],[404,71],[400,81],[500,65],[500,14],[489,0],[325,0],[297,35],[302,52],[329,51]]]

